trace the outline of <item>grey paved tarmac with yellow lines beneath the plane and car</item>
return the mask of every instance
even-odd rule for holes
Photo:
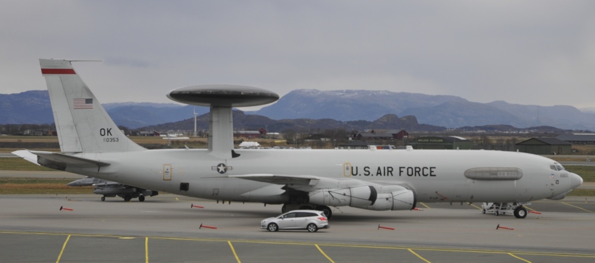
[[[280,205],[217,204],[172,194],[145,202],[2,195],[0,262],[595,260],[593,197],[536,201],[528,207],[542,214],[525,219],[482,214],[476,205],[419,204],[423,211],[340,207],[333,209],[330,229],[308,233],[259,229],[263,218],[280,214]],[[217,229],[199,229],[201,224]]]

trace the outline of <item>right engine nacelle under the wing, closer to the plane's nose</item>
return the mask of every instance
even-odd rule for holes
[[[415,208],[415,193],[402,186],[381,186],[377,189],[380,192],[376,201],[371,205],[352,205],[352,207],[363,208],[367,210],[412,210]]]

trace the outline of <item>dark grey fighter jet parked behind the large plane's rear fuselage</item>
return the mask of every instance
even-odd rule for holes
[[[93,194],[103,195],[101,201],[106,197],[121,197],[124,201],[130,201],[132,198],[139,198],[140,202],[145,201],[145,197],[154,197],[159,192],[137,188],[123,183],[112,182],[104,179],[87,176],[67,183],[68,186],[93,186]]]

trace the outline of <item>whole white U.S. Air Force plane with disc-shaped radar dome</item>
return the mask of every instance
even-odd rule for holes
[[[74,71],[40,59],[61,153],[30,151],[43,166],[155,191],[222,201],[411,210],[417,202],[492,202],[527,216],[530,201],[561,199],[583,183],[534,154],[484,150],[234,149],[232,107],[274,102],[261,88],[202,85],[167,96],[211,108],[208,149],[147,150],[129,140]]]

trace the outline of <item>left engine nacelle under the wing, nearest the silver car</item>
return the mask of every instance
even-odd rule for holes
[[[309,202],[317,205],[340,207],[366,207],[374,204],[377,192],[374,186],[359,185],[348,188],[320,189],[309,193]]]

